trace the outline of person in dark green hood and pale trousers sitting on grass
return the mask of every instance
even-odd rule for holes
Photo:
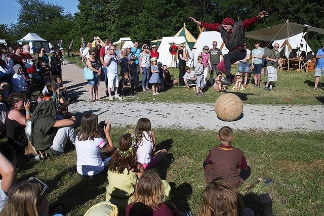
[[[35,150],[55,157],[64,153],[69,139],[75,144],[75,116],[57,120],[56,105],[53,101],[40,102],[31,116],[32,144]]]

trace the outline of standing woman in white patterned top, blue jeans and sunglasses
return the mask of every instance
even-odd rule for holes
[[[142,53],[140,54],[140,71],[142,73],[142,88],[143,92],[149,90],[148,88],[148,79],[150,75],[150,68],[151,68],[151,58],[150,58],[150,50],[149,47],[144,44],[142,46]]]

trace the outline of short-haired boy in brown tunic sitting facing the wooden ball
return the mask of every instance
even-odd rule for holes
[[[231,146],[235,136],[230,127],[222,127],[217,139],[221,141],[221,144],[212,148],[204,161],[206,182],[209,183],[216,177],[222,177],[234,188],[238,188],[244,180],[249,178],[251,168],[243,152]]]

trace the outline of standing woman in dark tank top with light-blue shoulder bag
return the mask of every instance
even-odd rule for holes
[[[100,101],[99,98],[99,77],[101,74],[101,65],[98,60],[96,60],[96,53],[93,49],[89,50],[89,59],[87,59],[87,67],[93,72],[93,79],[89,81],[89,95],[90,102],[93,102],[93,92],[95,92],[96,100]]]

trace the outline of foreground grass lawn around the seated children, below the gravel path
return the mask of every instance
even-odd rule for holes
[[[126,128],[112,128],[116,145]],[[169,150],[168,159],[157,169],[172,186],[170,200],[181,210],[198,209],[206,186],[203,161],[216,140],[213,131],[157,129],[159,148]],[[273,183],[256,184],[247,197],[270,192],[274,215],[322,215],[324,212],[324,146],[322,133],[265,133],[236,131],[233,146],[245,152],[252,174],[239,188],[246,188],[259,177]],[[64,203],[65,215],[83,215],[90,206],[105,200],[106,176],[80,178],[76,172],[75,150],[51,160],[18,164],[19,180],[35,176],[50,187],[50,202]],[[249,202],[249,205],[254,205]]]

